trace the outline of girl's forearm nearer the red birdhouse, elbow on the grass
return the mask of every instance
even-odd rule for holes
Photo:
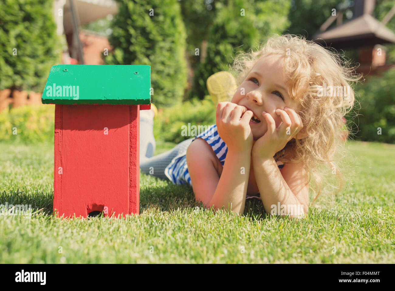
[[[243,214],[250,177],[251,151],[237,152],[228,148],[224,169],[209,206]]]

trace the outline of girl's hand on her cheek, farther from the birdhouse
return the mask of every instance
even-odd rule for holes
[[[276,152],[282,150],[288,141],[293,139],[303,128],[299,114],[291,108],[284,109],[276,109],[276,114],[281,116],[282,120],[282,124],[277,128],[273,117],[267,112],[262,112],[262,116],[267,123],[267,132],[254,143],[251,151],[253,158],[273,158]]]

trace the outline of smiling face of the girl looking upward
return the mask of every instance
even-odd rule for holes
[[[276,114],[277,108],[284,110],[284,107],[288,107],[296,112],[298,110],[298,103],[288,94],[290,86],[283,77],[281,58],[280,55],[268,55],[260,59],[231,100],[232,103],[254,112],[254,116],[260,120],[256,124],[250,123],[254,141],[265,135],[267,131],[267,123],[262,111],[269,113],[278,127],[282,120]]]

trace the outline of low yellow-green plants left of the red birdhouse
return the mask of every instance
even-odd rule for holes
[[[26,105],[0,112],[0,141],[53,143],[54,129],[55,105]]]

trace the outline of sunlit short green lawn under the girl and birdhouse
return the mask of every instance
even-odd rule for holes
[[[0,216],[0,262],[394,263],[395,145],[348,145],[354,181],[318,198],[302,221],[266,218],[260,201],[243,216],[213,213],[190,186],[144,174],[140,215],[61,220],[51,215],[53,143],[0,143],[0,204],[34,209],[31,218]],[[155,154],[173,146],[158,143]]]

